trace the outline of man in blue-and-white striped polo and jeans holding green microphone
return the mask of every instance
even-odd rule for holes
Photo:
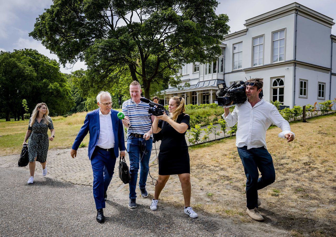
[[[140,101],[141,86],[133,81],[129,86],[131,99],[123,103],[122,112],[125,115],[123,124],[127,127],[127,152],[130,161],[131,181],[129,182],[129,208],[136,208],[136,180],[140,166],[139,188],[141,197],[148,196],[146,181],[148,164],[152,152],[153,135],[152,119],[148,113],[149,104]]]

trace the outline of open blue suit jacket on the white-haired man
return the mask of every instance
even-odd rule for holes
[[[119,156],[119,151],[125,151],[125,141],[124,141],[124,127],[121,122],[121,119],[117,116],[118,111],[111,109],[111,119],[112,119],[112,127],[114,133],[114,153],[116,157]],[[99,138],[99,108],[93,110],[86,114],[84,125],[79,130],[77,137],[72,145],[72,149],[78,149],[79,145],[83,141],[84,137],[86,136],[87,132],[90,133],[90,140],[89,140],[89,150],[88,156],[91,160],[92,153],[97,145],[98,138]]]

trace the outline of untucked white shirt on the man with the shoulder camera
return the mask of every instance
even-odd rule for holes
[[[234,111],[225,118],[229,127],[234,126],[237,121],[236,146],[247,146],[247,149],[264,146],[266,149],[266,130],[273,123],[281,128],[279,137],[285,138],[285,134],[293,133],[289,123],[281,116],[277,108],[261,99],[255,106],[251,106],[247,100],[236,105]],[[295,136],[295,134],[293,133]]]

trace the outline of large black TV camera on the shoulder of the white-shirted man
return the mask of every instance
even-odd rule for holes
[[[226,87],[225,82],[217,85],[217,102],[219,106],[231,107],[237,104],[244,103],[247,99],[245,90],[246,85],[244,81],[238,83],[234,82],[229,87]],[[227,96],[224,96],[224,95]],[[231,105],[230,103],[233,102]]]

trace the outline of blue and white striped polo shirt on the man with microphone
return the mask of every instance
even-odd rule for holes
[[[149,104],[140,101],[136,104],[132,98],[123,103],[122,112],[128,116],[131,127],[127,129],[127,136],[130,133],[145,134],[152,127],[151,115],[148,113]],[[153,137],[153,135],[151,135]]]

